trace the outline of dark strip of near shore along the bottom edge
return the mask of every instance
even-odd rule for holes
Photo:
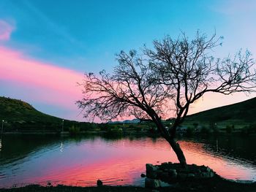
[[[256,191],[256,182],[254,183],[237,183],[234,180],[225,180],[222,177],[216,176],[211,179],[204,179],[204,180],[187,180],[183,182],[174,183],[168,187],[163,188],[143,188],[138,186],[110,186],[110,185],[102,185],[102,186],[94,186],[94,187],[78,187],[78,186],[67,186],[67,185],[57,185],[57,186],[41,186],[41,185],[27,185],[24,187],[19,188],[0,188],[0,191],[4,192],[24,192],[24,191],[90,191],[90,192],[101,192],[101,191],[108,191],[108,192],[116,192],[116,191],[232,191],[232,192],[252,192]]]

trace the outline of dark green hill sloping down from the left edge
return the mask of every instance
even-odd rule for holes
[[[61,131],[62,119],[39,112],[31,104],[0,96],[0,120],[4,131]],[[64,120],[64,130],[71,126],[85,128],[91,123]]]

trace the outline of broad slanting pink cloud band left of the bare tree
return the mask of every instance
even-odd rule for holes
[[[77,82],[83,80],[83,73],[35,61],[5,47],[0,47],[0,61],[0,80],[30,88],[30,98],[36,101],[77,110],[75,101],[81,97]]]

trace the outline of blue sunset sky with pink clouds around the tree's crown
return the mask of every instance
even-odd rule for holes
[[[22,99],[37,110],[86,120],[75,101],[84,72],[107,72],[120,50],[151,46],[181,31],[223,36],[214,55],[250,50],[256,58],[256,1],[1,0],[0,96]],[[190,113],[255,97],[206,95]]]

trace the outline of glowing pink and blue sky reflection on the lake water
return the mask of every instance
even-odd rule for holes
[[[255,169],[209,153],[201,143],[181,141],[180,145],[188,164],[210,166],[227,179],[249,180],[256,173]],[[140,174],[145,173],[145,164],[177,162],[164,139],[94,139],[64,142],[59,146],[30,154],[29,158],[9,168],[12,174],[6,174],[0,184],[5,187],[24,183],[46,185],[50,181],[53,185],[88,186],[96,185],[99,179],[106,185],[143,185]]]

